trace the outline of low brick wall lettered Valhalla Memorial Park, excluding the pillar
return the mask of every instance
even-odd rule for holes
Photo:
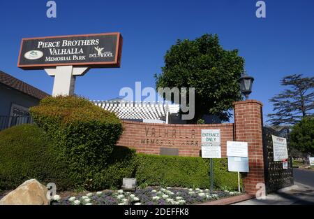
[[[200,156],[201,129],[220,129],[223,157],[226,157],[227,141],[234,141],[232,123],[173,125],[124,120],[123,125],[124,133],[117,145],[135,148],[137,153],[159,155],[160,148],[178,148],[180,156]]]

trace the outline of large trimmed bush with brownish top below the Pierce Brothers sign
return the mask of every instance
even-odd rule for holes
[[[36,124],[54,139],[77,186],[107,166],[122,133],[117,115],[73,96],[46,97],[30,111]]]

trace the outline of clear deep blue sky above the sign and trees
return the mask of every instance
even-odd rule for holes
[[[154,87],[166,50],[178,38],[218,34],[227,50],[239,49],[255,78],[251,99],[264,104],[283,87],[283,76],[314,75],[314,1],[265,1],[267,17],[255,16],[257,0],[59,0],[57,18],[46,17],[45,0],[0,1],[0,69],[52,93],[53,78],[42,70],[17,68],[21,38],[119,31],[124,46],[119,69],[91,69],[76,81],[75,93],[112,99],[122,87]]]

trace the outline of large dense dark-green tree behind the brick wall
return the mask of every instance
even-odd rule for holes
[[[193,41],[178,40],[164,59],[162,73],[155,75],[157,89],[195,87],[194,123],[205,114],[229,120],[232,102],[241,100],[238,80],[244,59],[238,50],[224,50],[216,34],[204,34]]]

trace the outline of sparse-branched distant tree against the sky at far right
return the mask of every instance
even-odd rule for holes
[[[314,77],[302,78],[302,75],[286,76],[281,85],[289,86],[280,94],[269,99],[274,104],[274,112],[267,116],[271,125],[294,125],[306,117],[313,115],[314,109]]]

